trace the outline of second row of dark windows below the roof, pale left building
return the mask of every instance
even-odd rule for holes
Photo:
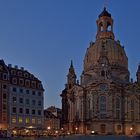
[[[17,103],[17,97],[13,97],[13,103]],[[23,98],[19,98],[19,103],[20,104],[24,104],[24,99]],[[39,101],[36,101],[36,100],[34,100],[34,99],[32,99],[32,100],[30,100],[30,99],[25,99],[25,104],[26,105],[33,105],[33,106],[35,106],[35,105],[38,105],[38,106],[41,106],[42,105],[42,102],[41,102],[41,100],[39,100]]]

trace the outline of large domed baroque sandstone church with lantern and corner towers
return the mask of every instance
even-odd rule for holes
[[[80,83],[71,62],[61,93],[63,127],[71,133],[140,133],[140,65],[133,82],[106,8],[96,23],[96,40],[87,48]]]

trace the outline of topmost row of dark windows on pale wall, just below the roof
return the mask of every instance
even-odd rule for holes
[[[13,87],[12,91],[13,91],[13,92],[20,92],[20,93],[24,93],[24,92],[25,92],[26,94],[32,94],[32,95],[41,96],[41,92],[36,92],[36,91],[34,91],[34,90],[28,90],[28,89],[26,89],[26,90],[24,91],[24,89],[20,88],[19,91],[18,91],[18,88]]]

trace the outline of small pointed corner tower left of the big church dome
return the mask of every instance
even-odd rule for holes
[[[70,65],[69,72],[68,72],[68,75],[67,75],[68,89],[72,88],[75,84],[76,84],[76,74],[75,74],[75,70],[74,70],[74,67],[73,67],[73,62],[71,60],[71,65]]]

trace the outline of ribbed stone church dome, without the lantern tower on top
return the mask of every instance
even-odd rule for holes
[[[128,69],[128,58],[124,51],[124,47],[119,41],[112,39],[100,39],[95,43],[90,43],[84,58],[84,71],[94,69],[98,65],[102,49],[105,49],[110,66],[119,66]]]

